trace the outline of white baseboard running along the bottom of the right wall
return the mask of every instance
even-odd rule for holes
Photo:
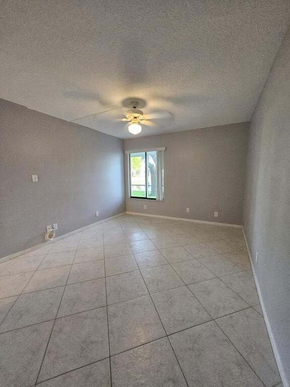
[[[273,350],[273,353],[274,353],[274,356],[275,356],[275,359],[276,359],[277,367],[278,367],[278,370],[280,372],[280,376],[281,376],[281,379],[282,379],[282,382],[283,382],[283,387],[290,387],[290,385],[289,385],[289,383],[288,383],[288,381],[286,379],[286,375],[285,375],[284,368],[283,368],[282,363],[281,363],[280,355],[279,355],[277,347],[276,347],[275,339],[274,339],[274,336],[273,336],[273,333],[272,333],[272,330],[271,330],[271,326],[270,326],[270,323],[269,323],[267,312],[265,310],[265,306],[264,306],[264,303],[263,303],[263,298],[262,298],[259,282],[258,282],[256,273],[255,273],[255,269],[254,269],[254,265],[253,265],[253,260],[252,260],[252,255],[251,255],[251,252],[250,252],[250,249],[249,249],[249,245],[248,245],[248,241],[247,241],[246,234],[245,234],[245,231],[244,231],[244,227],[242,227],[242,230],[243,230],[244,239],[245,239],[246,246],[247,246],[247,251],[248,251],[248,254],[249,254],[250,264],[251,264],[251,267],[252,267],[252,272],[253,272],[253,276],[254,276],[254,280],[255,280],[255,284],[256,284],[256,288],[257,288],[257,292],[258,292],[258,296],[259,296],[260,305],[261,305],[261,308],[262,308],[262,312],[263,312],[266,328],[267,328],[267,331],[268,331],[268,335],[269,335],[269,339],[270,339],[270,342],[271,342],[272,350]]]

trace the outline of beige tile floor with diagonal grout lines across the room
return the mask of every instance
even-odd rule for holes
[[[281,385],[242,232],[121,216],[0,264],[2,387]]]

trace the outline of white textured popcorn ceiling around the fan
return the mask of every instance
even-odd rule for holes
[[[174,120],[142,136],[250,119],[289,0],[4,0],[0,98],[65,120],[147,101]],[[132,137],[126,109],[77,122]]]

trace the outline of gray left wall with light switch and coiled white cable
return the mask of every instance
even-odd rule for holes
[[[0,257],[125,211],[123,140],[0,100],[0,147]]]

